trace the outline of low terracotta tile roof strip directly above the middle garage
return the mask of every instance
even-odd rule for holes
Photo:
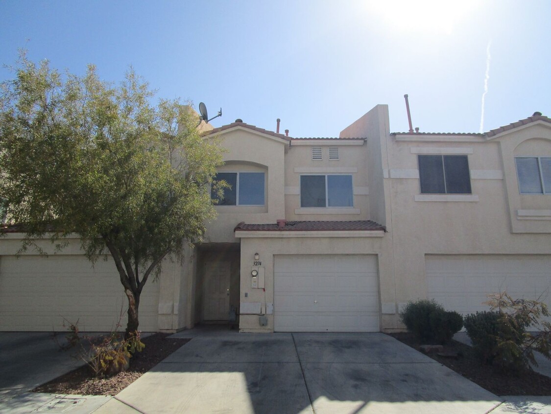
[[[371,220],[358,221],[287,221],[284,227],[277,224],[245,224],[235,226],[234,231],[385,231],[384,226]]]

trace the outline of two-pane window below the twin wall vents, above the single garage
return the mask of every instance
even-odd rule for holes
[[[301,207],[352,207],[352,176],[300,176]]]

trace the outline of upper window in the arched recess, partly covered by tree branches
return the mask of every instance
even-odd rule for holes
[[[263,172],[220,172],[214,181],[225,181],[230,188],[224,189],[224,197],[210,192],[218,205],[264,205],[264,173]]]

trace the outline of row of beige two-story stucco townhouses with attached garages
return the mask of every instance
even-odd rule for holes
[[[205,240],[145,288],[142,330],[235,316],[243,332],[390,331],[409,300],[468,313],[505,289],[551,305],[551,120],[485,134],[389,125],[377,105],[333,139],[241,120],[206,132],[231,189]],[[0,330],[114,325],[125,301],[109,258],[91,269],[75,240],[17,259],[20,238],[0,240]]]

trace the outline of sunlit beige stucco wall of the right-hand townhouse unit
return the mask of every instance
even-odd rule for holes
[[[419,148],[431,148],[426,153],[467,154],[472,196],[461,196],[464,201],[416,201],[420,186],[418,175],[415,176],[415,152]],[[524,151],[526,148],[530,154]],[[391,188],[388,201],[392,206],[396,296],[400,306],[426,298],[425,254],[551,253],[551,220],[516,217],[517,209],[551,209],[551,195],[520,195],[514,162],[515,155],[550,153],[551,129],[542,125],[513,130],[490,140],[483,136],[389,137],[389,178],[385,181]]]

